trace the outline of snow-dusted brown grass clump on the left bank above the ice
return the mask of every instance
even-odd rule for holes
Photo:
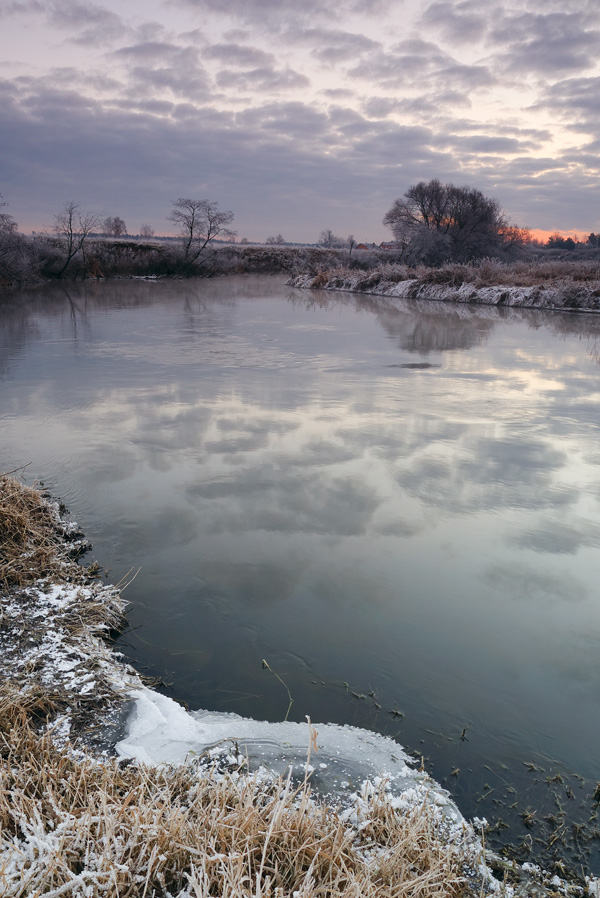
[[[0,679],[18,684],[32,718],[68,709],[72,735],[100,712],[108,725],[122,702],[106,639],[124,627],[124,602],[74,560],[80,535],[44,493],[0,476]]]

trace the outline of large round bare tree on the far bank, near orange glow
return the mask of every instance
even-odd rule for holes
[[[495,255],[509,229],[497,200],[437,178],[410,187],[394,201],[383,223],[406,254],[434,263]]]

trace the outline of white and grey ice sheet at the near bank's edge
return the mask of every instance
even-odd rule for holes
[[[331,798],[353,794],[365,780],[385,779],[398,796],[437,805],[445,817],[462,817],[448,793],[392,739],[356,727],[315,724],[316,751],[308,723],[269,723],[208,711],[188,712],[151,689],[131,693],[133,711],[127,734],[117,743],[124,758],[150,764],[179,764],[189,755],[223,749],[247,758],[250,770],[274,774],[290,768],[300,779],[310,773],[313,789]],[[310,747],[310,753],[309,753]]]

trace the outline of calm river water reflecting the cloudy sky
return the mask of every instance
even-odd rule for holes
[[[600,873],[599,334],[280,277],[7,292],[0,468],[139,568],[118,648],[168,694],[281,720],[264,659],[290,719]]]

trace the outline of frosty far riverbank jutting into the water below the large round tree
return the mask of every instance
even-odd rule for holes
[[[370,272],[321,271],[316,275],[291,277],[286,284],[304,290],[371,294],[392,300],[473,303],[569,312],[600,311],[600,279],[595,269],[583,275],[580,272],[580,276],[575,278],[573,273],[577,266],[570,272],[568,266],[561,265],[554,274],[550,270],[546,275],[534,272],[529,278],[519,278],[514,276],[511,266],[491,263],[489,267],[493,269],[492,273],[486,272],[483,265],[423,269],[416,275],[414,270],[405,266],[384,266]],[[502,275],[506,281],[494,283]]]

